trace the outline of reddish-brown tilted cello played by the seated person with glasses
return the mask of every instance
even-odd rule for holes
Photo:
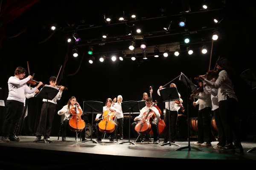
[[[151,105],[151,108],[156,103],[157,103],[157,101],[155,101]],[[137,133],[142,134],[142,135],[149,133],[151,131],[151,124],[150,124],[150,122],[152,122],[155,117],[156,117],[156,114],[154,113],[154,111],[151,111],[151,110],[145,111],[143,113],[142,119],[135,126],[135,130],[137,131]]]

